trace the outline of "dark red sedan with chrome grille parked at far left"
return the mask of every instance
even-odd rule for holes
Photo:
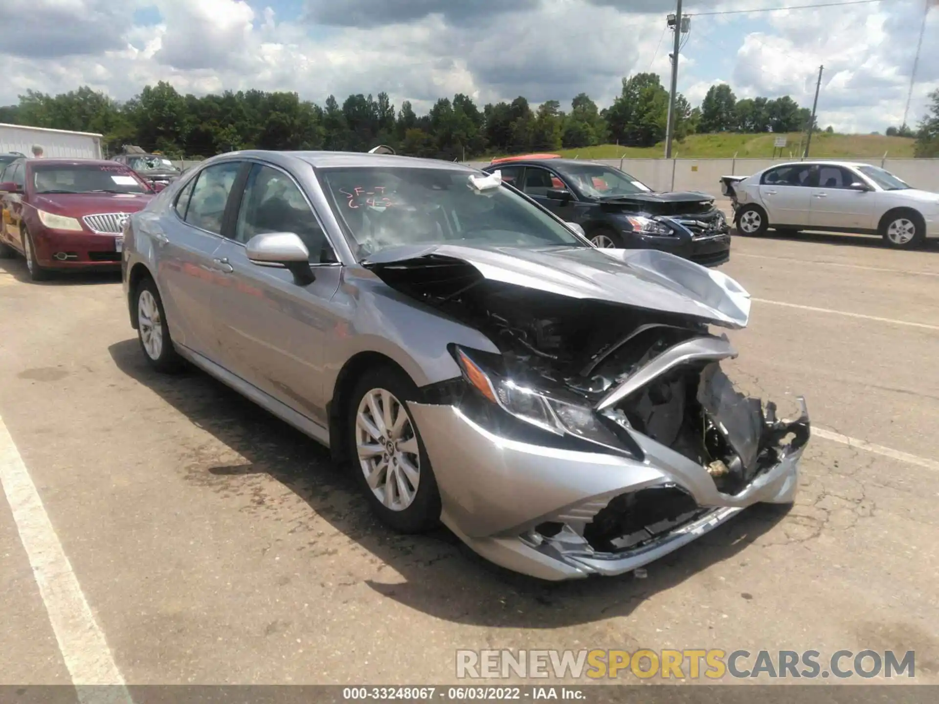
[[[56,269],[119,269],[124,223],[153,195],[114,161],[12,161],[0,176],[0,256],[23,254],[33,281]]]

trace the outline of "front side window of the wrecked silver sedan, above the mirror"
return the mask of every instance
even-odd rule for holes
[[[247,243],[255,235],[269,232],[292,232],[300,237],[313,264],[337,261],[313,208],[294,180],[283,171],[254,164],[241,198],[235,239]]]

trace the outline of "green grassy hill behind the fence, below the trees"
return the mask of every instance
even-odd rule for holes
[[[769,158],[773,156],[773,142],[778,134],[692,134],[684,142],[672,144],[672,154],[678,159],[737,159]],[[805,134],[794,132],[786,135],[788,145],[782,156],[797,157],[799,143]],[[913,143],[909,137],[885,137],[881,134],[828,134],[816,132],[812,135],[811,156],[815,159],[880,159],[887,153],[893,159],[912,158]],[[804,146],[803,146],[804,148]],[[665,153],[664,143],[650,147],[598,145],[579,149],[562,149],[559,154],[580,159],[627,159],[658,158]]]

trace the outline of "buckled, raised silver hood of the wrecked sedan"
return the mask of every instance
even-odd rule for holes
[[[421,269],[461,261],[485,279],[559,294],[691,315],[725,328],[746,328],[750,295],[731,277],[656,250],[593,247],[472,247],[407,245],[382,250],[362,261],[382,269]]]

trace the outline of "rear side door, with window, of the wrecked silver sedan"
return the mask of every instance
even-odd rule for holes
[[[224,161],[199,172],[179,191],[176,222],[160,245],[158,283],[170,334],[178,344],[218,361],[218,340],[211,301],[227,282],[217,260],[229,195],[244,161]]]

